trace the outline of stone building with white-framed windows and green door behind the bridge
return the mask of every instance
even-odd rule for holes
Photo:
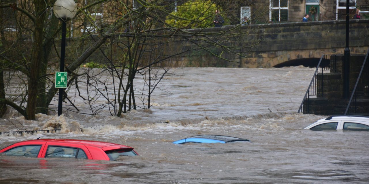
[[[300,22],[304,14],[309,21],[342,20],[346,14],[346,0],[251,0],[241,5],[240,20],[247,16],[255,23]],[[356,8],[369,10],[366,0],[350,0],[349,6],[352,15]]]

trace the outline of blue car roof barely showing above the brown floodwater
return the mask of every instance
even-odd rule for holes
[[[174,144],[185,144],[189,142],[197,142],[197,143],[227,143],[227,142],[235,142],[235,141],[247,141],[251,142],[248,139],[242,139],[238,137],[230,137],[224,135],[196,135],[192,137],[188,137],[185,139],[180,139],[178,141],[174,141]]]

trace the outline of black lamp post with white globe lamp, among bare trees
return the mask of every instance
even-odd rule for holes
[[[60,53],[60,71],[64,71],[64,57],[65,57],[65,34],[66,34],[66,22],[72,19],[77,12],[77,4],[73,0],[57,0],[54,3],[54,14],[62,21],[62,46]],[[63,91],[64,88],[59,88],[59,104],[58,104],[58,116],[62,114],[63,107]]]

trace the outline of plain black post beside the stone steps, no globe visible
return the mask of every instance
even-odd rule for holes
[[[348,39],[349,39],[349,1],[346,0],[346,45],[345,45],[345,60],[344,60],[344,98],[349,98],[350,93],[350,49],[348,47]]]

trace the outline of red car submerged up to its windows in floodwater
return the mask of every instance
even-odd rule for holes
[[[110,142],[76,139],[36,139],[21,141],[0,150],[8,156],[35,158],[76,158],[115,160],[118,156],[137,156],[133,148]]]

